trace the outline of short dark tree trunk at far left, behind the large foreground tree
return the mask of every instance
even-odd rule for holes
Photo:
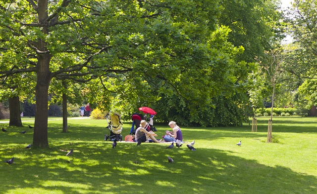
[[[18,96],[9,98],[10,121],[9,126],[22,126],[20,116],[20,99]]]

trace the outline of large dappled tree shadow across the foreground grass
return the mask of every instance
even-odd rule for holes
[[[265,166],[222,150],[192,152],[185,145],[165,149],[168,145],[137,147],[123,142],[111,149],[110,142],[81,142],[72,145],[74,154],[68,157],[61,151],[66,146],[11,148],[20,158],[16,157],[16,164],[0,166],[6,177],[1,193],[317,193],[315,176]],[[174,159],[173,164],[167,156]]]

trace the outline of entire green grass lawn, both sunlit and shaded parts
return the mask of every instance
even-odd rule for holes
[[[317,117],[273,117],[272,135],[265,143],[269,117],[258,117],[258,132],[242,127],[181,127],[184,141],[196,141],[196,152],[169,144],[104,141],[106,120],[49,118],[50,149],[25,149],[32,143],[34,118],[25,127],[0,133],[0,193],[5,194],[316,194]],[[156,125],[162,136],[168,125]],[[122,135],[131,123],[124,122]],[[20,131],[27,130],[25,134]],[[236,146],[241,140],[242,146]],[[67,151],[74,149],[71,157]],[[174,160],[169,164],[167,156]],[[70,162],[66,162],[69,160]]]

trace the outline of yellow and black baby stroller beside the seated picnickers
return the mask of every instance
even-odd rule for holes
[[[121,116],[117,113],[106,115],[109,133],[105,135],[105,141],[107,141],[107,139],[110,139],[111,141],[114,139],[117,141],[122,140],[122,135],[120,133],[122,131],[123,123],[121,122],[120,117]]]

